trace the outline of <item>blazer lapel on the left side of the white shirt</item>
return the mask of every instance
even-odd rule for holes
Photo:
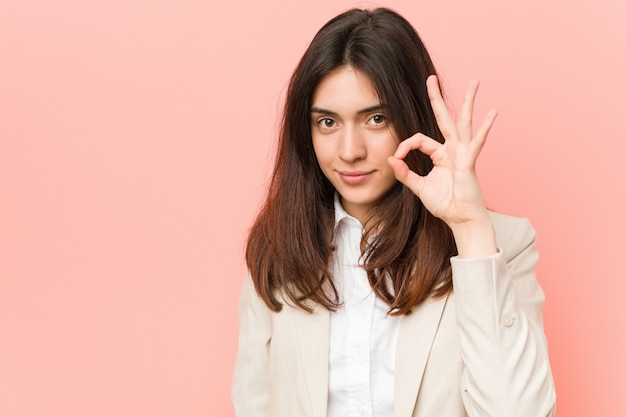
[[[311,415],[326,417],[330,312],[319,306],[315,307],[313,313],[297,309],[295,328],[302,369],[311,401]]]

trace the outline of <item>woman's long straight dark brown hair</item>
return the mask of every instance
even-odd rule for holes
[[[422,132],[443,142],[426,91],[435,68],[411,24],[384,8],[349,10],[326,23],[291,77],[267,197],[246,247],[256,291],[274,311],[282,302],[307,311],[311,302],[340,305],[330,265],[335,189],[313,150],[311,102],[320,81],[344,65],[371,80],[397,137]],[[405,162],[421,175],[432,169],[418,151]],[[396,183],[364,227],[364,268],[391,314],[408,313],[430,295],[451,290],[452,232],[409,189]]]

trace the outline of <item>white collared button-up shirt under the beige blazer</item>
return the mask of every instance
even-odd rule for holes
[[[360,266],[362,235],[335,197],[333,279],[343,306],[330,313],[327,417],[393,416],[400,317],[387,315]]]

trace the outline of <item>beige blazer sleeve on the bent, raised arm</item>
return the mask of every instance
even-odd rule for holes
[[[461,395],[470,417],[553,416],[535,231],[526,219],[508,219],[502,233],[494,222],[498,254],[451,260],[465,365]]]

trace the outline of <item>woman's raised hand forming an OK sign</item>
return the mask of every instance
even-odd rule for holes
[[[476,177],[476,160],[485,144],[489,129],[496,118],[496,111],[491,110],[485,116],[478,130],[472,129],[474,100],[478,90],[478,81],[470,82],[461,106],[458,120],[454,120],[441,96],[437,78],[434,75],[426,81],[430,103],[437,119],[437,124],[445,138],[441,144],[436,140],[417,133],[402,141],[395,154],[389,157],[394,174],[417,195],[426,209],[450,226],[459,254],[461,244],[476,238],[484,241],[489,237],[482,252],[494,252],[493,226],[489,220]],[[433,161],[434,168],[426,176],[411,171],[402,160],[411,150],[419,150]],[[483,242],[485,243],[485,242]]]

